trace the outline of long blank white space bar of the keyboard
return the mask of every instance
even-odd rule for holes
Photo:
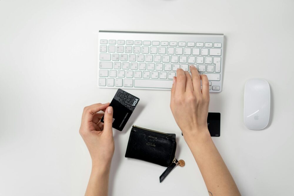
[[[143,80],[135,79],[134,87],[141,88],[171,88],[173,86],[172,80]]]

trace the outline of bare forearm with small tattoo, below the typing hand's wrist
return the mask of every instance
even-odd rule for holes
[[[225,162],[214,145],[208,130],[185,138],[197,162],[210,195],[240,195]]]

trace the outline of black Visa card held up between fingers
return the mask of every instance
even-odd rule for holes
[[[113,107],[112,127],[122,131],[134,109],[138,105],[139,98],[121,90],[116,91],[109,106]],[[104,115],[101,119],[104,123]]]

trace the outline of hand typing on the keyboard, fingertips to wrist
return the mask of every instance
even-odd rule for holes
[[[171,89],[171,111],[187,142],[199,132],[208,132],[209,82],[206,75],[199,75],[195,66],[190,66],[191,75],[177,69]],[[201,83],[202,80],[202,90]]]

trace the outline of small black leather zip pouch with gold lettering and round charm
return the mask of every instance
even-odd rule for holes
[[[162,182],[176,165],[184,164],[176,160],[176,149],[176,139],[170,134],[133,125],[125,157],[168,167],[160,177]]]

